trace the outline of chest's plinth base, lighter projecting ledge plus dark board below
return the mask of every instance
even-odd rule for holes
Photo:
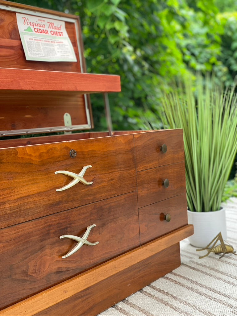
[[[97,315],[180,265],[186,225],[0,311],[2,315]]]

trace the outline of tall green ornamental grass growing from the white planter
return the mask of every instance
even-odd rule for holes
[[[220,210],[237,150],[236,86],[224,89],[214,75],[179,81],[162,95],[165,128],[184,133],[190,211]]]

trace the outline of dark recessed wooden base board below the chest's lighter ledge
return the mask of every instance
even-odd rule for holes
[[[179,265],[177,243],[35,315],[97,315]]]

